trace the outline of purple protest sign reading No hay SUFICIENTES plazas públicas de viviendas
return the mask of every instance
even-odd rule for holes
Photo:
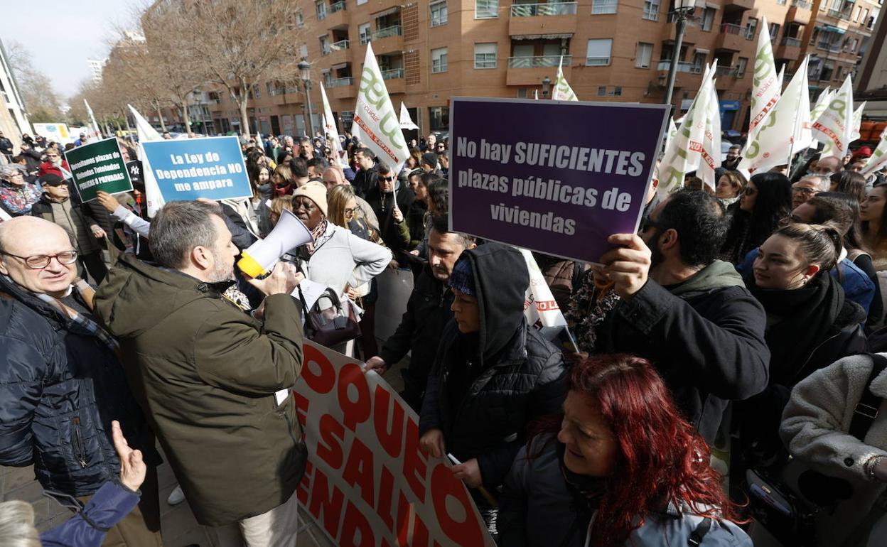
[[[598,262],[638,230],[668,105],[452,98],[451,230]]]

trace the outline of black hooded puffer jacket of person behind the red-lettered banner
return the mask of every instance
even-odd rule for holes
[[[477,458],[483,483],[505,480],[530,421],[561,409],[566,367],[558,348],[526,324],[526,262],[514,247],[490,243],[459,259],[470,261],[480,332],[447,324],[428,377],[420,434],[443,431],[448,452]]]

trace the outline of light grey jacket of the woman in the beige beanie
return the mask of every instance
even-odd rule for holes
[[[305,277],[332,288],[340,299],[345,285],[357,288],[385,271],[391,251],[358,238],[349,230],[328,223],[324,235],[314,243],[310,259],[300,260]]]

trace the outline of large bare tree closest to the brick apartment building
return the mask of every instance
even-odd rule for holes
[[[170,47],[197,61],[195,72],[224,86],[239,105],[240,133],[249,135],[247,102],[268,80],[298,74],[298,28],[291,2],[273,0],[171,0],[145,13],[162,12]],[[185,86],[186,87],[186,86]]]

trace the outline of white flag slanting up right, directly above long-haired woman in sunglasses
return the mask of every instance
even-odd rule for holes
[[[760,172],[786,165],[789,163],[789,156],[810,144],[812,135],[807,62],[807,58],[801,61],[789,87],[760,124],[755,140],[746,146],[740,168]]]

